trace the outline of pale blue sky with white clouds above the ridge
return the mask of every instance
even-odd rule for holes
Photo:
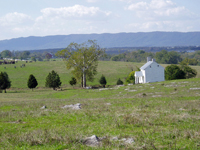
[[[0,40],[200,31],[200,0],[0,0]]]

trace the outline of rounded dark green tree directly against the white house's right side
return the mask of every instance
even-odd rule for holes
[[[175,79],[185,79],[185,72],[177,65],[169,65],[165,68],[165,79],[175,80]]]

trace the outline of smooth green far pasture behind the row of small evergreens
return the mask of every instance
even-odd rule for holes
[[[21,68],[20,66],[22,64],[25,64],[25,67]],[[98,85],[102,74],[106,77],[108,85],[115,85],[119,78],[125,81],[131,69],[136,70],[136,66],[141,67],[143,64],[144,63],[100,61],[98,65],[98,74],[95,76],[94,82],[87,82],[87,85]],[[16,68],[14,68],[14,66],[16,66]],[[167,65],[164,64],[162,66],[166,67]],[[6,69],[4,67],[6,67]],[[198,72],[197,78],[200,77],[200,66],[194,66],[193,68]],[[70,70],[66,69],[62,60],[32,63],[19,61],[16,64],[0,65],[0,71],[6,71],[8,73],[12,81],[12,88],[27,88],[27,80],[30,74],[36,77],[38,87],[44,87],[46,76],[52,70],[55,70],[59,74],[62,87],[69,86],[69,80],[72,74]]]

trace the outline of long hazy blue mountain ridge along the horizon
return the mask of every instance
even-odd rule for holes
[[[198,46],[200,32],[138,32],[138,33],[103,33],[71,34],[54,36],[30,36],[0,41],[0,51],[34,50],[67,47],[71,42],[83,43],[97,40],[103,48],[111,47],[163,47],[163,46]]]

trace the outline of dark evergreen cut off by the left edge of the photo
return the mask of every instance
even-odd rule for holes
[[[11,87],[11,81],[6,72],[0,73],[0,90],[5,90]]]

